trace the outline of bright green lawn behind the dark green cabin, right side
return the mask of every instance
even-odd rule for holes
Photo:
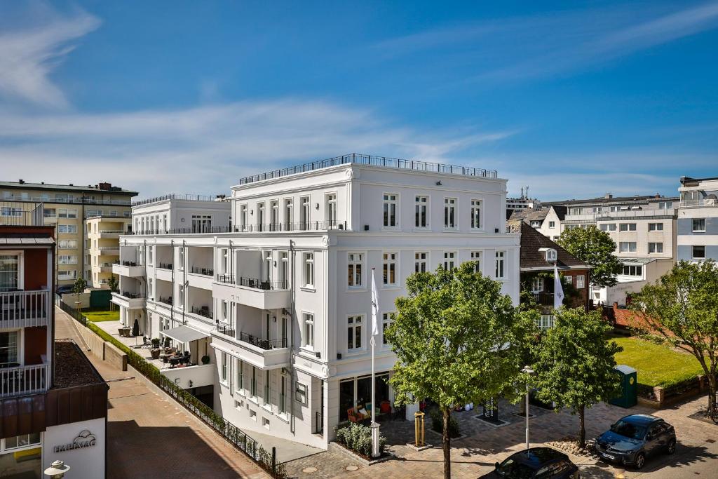
[[[639,338],[610,339],[623,346],[623,352],[616,355],[616,363],[625,364],[638,371],[640,384],[665,386],[703,374],[703,368],[693,355],[677,353],[666,346]]]

